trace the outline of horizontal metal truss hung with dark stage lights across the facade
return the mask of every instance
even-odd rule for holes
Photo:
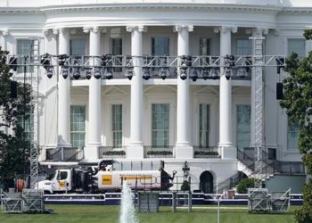
[[[39,62],[37,59],[39,58]],[[23,60],[21,60],[23,59]],[[245,78],[250,73],[250,68],[255,66],[251,56],[125,56],[105,54],[102,56],[85,55],[51,55],[21,56],[10,55],[8,65],[16,71],[18,66],[42,66],[48,78],[53,77],[56,67],[63,78],[96,79],[116,78],[120,72],[131,80],[135,75],[135,67],[142,68],[142,78],[190,78],[193,81],[201,78],[218,79],[225,75],[226,79],[239,77]],[[264,65],[275,66],[277,72],[285,65],[283,56],[264,57]],[[223,69],[223,73],[220,70]],[[115,74],[116,73],[116,74]]]

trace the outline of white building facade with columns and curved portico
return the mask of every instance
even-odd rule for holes
[[[311,12],[308,0],[2,0],[0,45],[10,54],[196,57],[251,55],[250,37],[263,37],[264,55],[304,57],[312,50],[302,37],[312,26]],[[27,70],[28,81],[36,73],[33,125],[42,163],[77,163],[63,153],[59,160],[46,155],[57,147],[77,147],[84,161],[114,158],[141,168],[164,160],[180,175],[187,161],[193,189],[207,193],[239,170],[251,174],[237,157],[255,144],[252,70],[226,79],[221,68],[219,78],[196,81],[179,78],[178,69],[165,79],[161,70],[150,70],[147,80],[142,66],[135,66],[131,80],[124,71],[87,79],[80,70],[75,79],[62,78],[56,67],[52,78],[43,68]],[[22,80],[22,70],[14,77]],[[270,67],[263,77],[263,148],[269,159],[300,162],[298,128],[288,125],[275,96],[276,82],[286,74]]]

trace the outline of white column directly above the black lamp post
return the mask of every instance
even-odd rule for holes
[[[193,26],[176,26],[177,55],[189,54],[189,32]],[[190,145],[190,85],[189,78],[177,77],[177,143],[176,158],[193,158],[193,146]]]

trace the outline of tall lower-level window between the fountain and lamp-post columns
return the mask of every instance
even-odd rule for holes
[[[168,147],[169,104],[152,103],[152,147]]]

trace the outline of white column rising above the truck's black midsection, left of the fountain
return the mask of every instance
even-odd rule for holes
[[[98,27],[84,29],[90,32],[89,54],[98,56],[101,54],[101,31]],[[99,64],[94,64],[99,65]],[[86,160],[98,159],[98,146],[101,145],[101,79],[94,76],[89,80],[89,127],[88,142],[85,149]]]

